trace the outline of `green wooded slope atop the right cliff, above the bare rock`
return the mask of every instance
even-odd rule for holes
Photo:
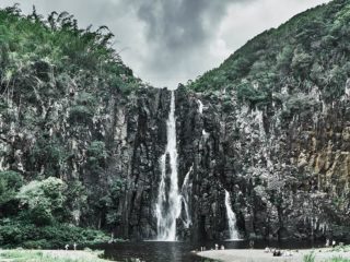
[[[256,36],[218,69],[188,85],[198,92],[234,90],[238,100],[252,105],[272,100],[295,105],[291,110],[300,108],[298,103],[307,107],[312,102],[275,96],[282,87],[298,94],[316,85],[324,100],[337,99],[345,94],[350,75],[349,28],[349,1],[334,0]]]

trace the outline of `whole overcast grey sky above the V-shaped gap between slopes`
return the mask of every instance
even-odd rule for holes
[[[329,0],[0,0],[27,13],[68,11],[81,27],[107,25],[136,75],[176,87],[218,67],[265,29]]]

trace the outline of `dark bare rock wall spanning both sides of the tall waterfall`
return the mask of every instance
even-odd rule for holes
[[[185,217],[178,219],[179,238],[229,237],[224,190],[231,193],[242,237],[348,237],[348,96],[330,105],[305,93],[314,106],[287,114],[283,105],[238,103],[234,92],[205,95],[179,87],[175,94],[179,188],[191,169],[192,224],[185,228]],[[110,95],[89,121],[78,124],[70,110],[79,95],[55,102],[43,97],[36,106],[14,102],[9,114],[18,120],[1,116],[1,169],[28,180],[34,175],[57,176],[68,184],[80,180],[88,200],[77,206],[74,223],[116,237],[154,239],[170,92],[141,88],[128,97]],[[28,116],[44,116],[42,124],[28,126]],[[96,141],[104,143],[101,158],[91,153]],[[55,162],[48,153],[34,154],[38,143],[69,154]],[[121,186],[108,202],[115,181]]]

